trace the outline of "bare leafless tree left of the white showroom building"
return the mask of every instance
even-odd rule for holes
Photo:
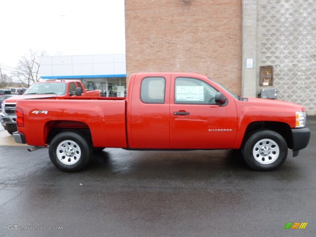
[[[39,58],[46,56],[45,51],[33,51],[22,56],[17,67],[15,76],[19,78],[19,81],[24,87],[29,87],[34,82],[40,80],[40,62]]]

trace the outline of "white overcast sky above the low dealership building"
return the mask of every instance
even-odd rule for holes
[[[2,73],[29,49],[49,56],[125,53],[124,0],[15,0],[0,8]]]

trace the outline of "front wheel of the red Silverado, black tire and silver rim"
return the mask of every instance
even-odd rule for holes
[[[279,133],[260,130],[246,139],[241,152],[247,165],[252,169],[270,171],[284,163],[288,156],[288,146]]]

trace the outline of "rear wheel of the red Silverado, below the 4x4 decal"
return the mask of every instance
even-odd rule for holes
[[[49,158],[60,170],[79,171],[89,162],[92,151],[89,144],[79,133],[58,133],[49,145]]]

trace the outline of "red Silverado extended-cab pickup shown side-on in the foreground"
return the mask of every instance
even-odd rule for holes
[[[131,75],[127,98],[54,97],[18,100],[17,143],[49,145],[64,171],[85,167],[93,149],[241,149],[255,170],[280,167],[288,148],[309,142],[303,106],[242,98],[206,76]]]

